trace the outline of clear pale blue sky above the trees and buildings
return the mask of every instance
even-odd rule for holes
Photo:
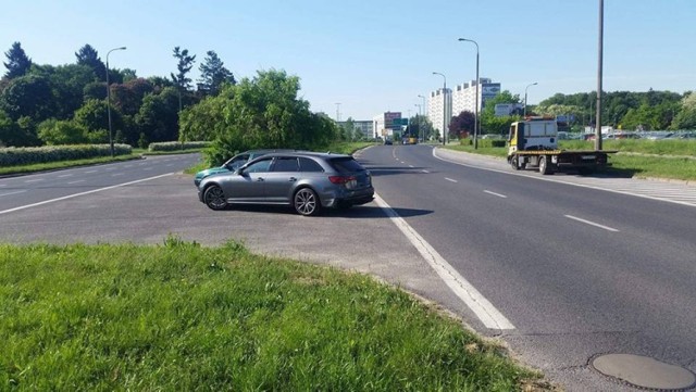
[[[371,119],[415,114],[442,87],[480,74],[537,103],[596,90],[598,0],[9,1],[0,50],[12,42],[35,63],[67,64],[85,43],[138,76],[176,71],[172,50],[214,50],[237,79],[285,69],[313,111]],[[605,0],[604,90],[696,90],[696,0]],[[2,60],[7,59],[4,55]],[[0,67],[4,73],[4,68]],[[340,105],[336,105],[339,102]]]

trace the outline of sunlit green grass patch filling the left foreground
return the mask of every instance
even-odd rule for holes
[[[0,390],[510,391],[538,375],[405,292],[237,243],[0,245]]]

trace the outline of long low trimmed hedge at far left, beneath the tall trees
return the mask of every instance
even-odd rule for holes
[[[128,144],[114,144],[114,155],[129,155]],[[0,149],[0,166],[33,165],[57,161],[87,160],[110,156],[109,144],[74,144],[47,147],[9,147]]]

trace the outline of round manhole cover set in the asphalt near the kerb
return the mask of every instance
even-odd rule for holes
[[[684,390],[696,385],[689,370],[632,354],[607,354],[593,359],[592,366],[605,376],[616,377],[635,387],[656,390]]]

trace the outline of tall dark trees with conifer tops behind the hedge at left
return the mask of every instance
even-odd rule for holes
[[[20,42],[4,55],[0,147],[109,142],[109,109],[116,142],[147,147],[177,140],[185,108],[217,94],[224,85],[236,84],[213,50],[199,66],[201,77],[195,88],[188,75],[196,55],[179,47],[173,50],[176,73],[148,78],[130,68],[107,69],[90,45],[75,52],[75,63],[57,66],[34,63]]]

